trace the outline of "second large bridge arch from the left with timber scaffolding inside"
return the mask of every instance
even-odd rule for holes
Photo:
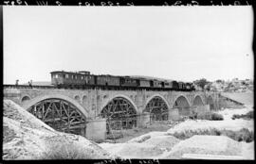
[[[100,116],[106,119],[107,133],[111,129],[130,129],[137,126],[137,107],[128,96],[111,97],[103,104]]]

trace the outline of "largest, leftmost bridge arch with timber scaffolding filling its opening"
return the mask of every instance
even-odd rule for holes
[[[25,106],[28,112],[57,131],[85,136],[88,114],[75,100],[64,95],[45,95]]]

